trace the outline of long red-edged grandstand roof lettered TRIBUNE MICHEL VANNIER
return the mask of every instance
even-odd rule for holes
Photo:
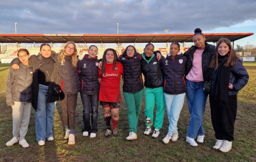
[[[0,43],[164,43],[193,42],[194,34],[0,34]],[[221,37],[231,42],[253,33],[204,34],[206,42],[217,42]]]

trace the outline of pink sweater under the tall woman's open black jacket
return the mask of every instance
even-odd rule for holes
[[[204,50],[195,50],[194,59],[192,62],[191,70],[188,75],[186,75],[186,79],[189,81],[204,81],[203,71],[202,71],[202,54]]]

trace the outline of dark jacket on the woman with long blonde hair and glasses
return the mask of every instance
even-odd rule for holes
[[[75,67],[72,66],[72,56],[64,56],[65,62],[59,60],[58,66],[58,84],[61,85],[61,89],[66,94],[76,94],[80,91],[78,72]]]

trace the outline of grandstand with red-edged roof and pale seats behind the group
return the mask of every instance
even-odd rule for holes
[[[79,59],[82,59],[87,54],[87,43],[92,44],[109,44],[115,43],[119,47],[112,47],[117,50],[119,55],[125,49],[122,47],[122,43],[166,43],[166,47],[155,47],[154,50],[160,50],[163,56],[169,53],[168,43],[179,42],[183,44],[180,46],[180,51],[184,53],[189,47],[184,47],[185,42],[192,42],[194,34],[0,34],[0,43],[14,43],[16,47],[6,47],[0,54],[0,59],[13,59],[17,57],[17,51],[20,48],[26,48],[31,55],[37,55],[40,51],[39,47],[35,47],[35,43],[49,43],[52,46],[52,50],[59,53],[61,47],[53,47],[54,43],[66,43],[67,41],[73,41],[75,43],[84,43],[84,47],[77,46]],[[231,42],[242,39],[247,36],[251,36],[253,33],[215,33],[204,34],[206,42],[217,42],[221,37],[230,39]],[[34,47],[19,47],[21,43],[34,43]],[[121,47],[120,47],[121,46]],[[144,47],[136,47],[138,53],[143,53]],[[98,58],[102,58],[102,55],[107,47],[99,47]]]

